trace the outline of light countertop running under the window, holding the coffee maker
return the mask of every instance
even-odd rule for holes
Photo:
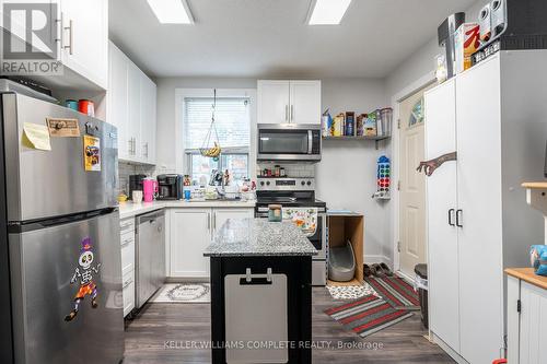
[[[119,203],[119,219],[137,216],[160,209],[184,209],[184,208],[254,208],[255,201],[185,201],[162,200],[153,202],[132,203],[131,201]]]

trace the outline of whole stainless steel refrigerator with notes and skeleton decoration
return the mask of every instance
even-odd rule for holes
[[[116,128],[12,92],[0,92],[0,362],[117,364]],[[51,136],[49,151],[36,149],[46,119],[60,129],[62,119],[77,122],[79,134]]]

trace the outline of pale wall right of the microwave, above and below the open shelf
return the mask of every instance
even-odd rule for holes
[[[368,113],[388,105],[381,79],[337,79],[322,82],[323,109]],[[389,251],[389,202],[373,200],[376,160],[384,148],[373,141],[325,141],[316,167],[317,198],[329,209],[349,209],[364,214],[365,261],[386,261]],[[391,157],[391,155],[388,155]]]

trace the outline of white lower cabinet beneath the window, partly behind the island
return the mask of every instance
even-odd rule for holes
[[[168,262],[171,278],[209,278],[205,249],[228,219],[253,218],[253,208],[171,209]]]

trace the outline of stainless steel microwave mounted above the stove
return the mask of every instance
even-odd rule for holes
[[[321,125],[259,124],[258,161],[319,162]]]

